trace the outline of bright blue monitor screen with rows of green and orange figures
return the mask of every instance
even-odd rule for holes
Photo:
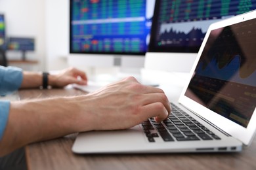
[[[70,53],[144,55],[154,8],[147,0],[70,0]]]

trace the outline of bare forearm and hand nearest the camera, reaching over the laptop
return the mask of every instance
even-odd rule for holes
[[[160,122],[169,112],[161,89],[142,86],[133,77],[87,95],[11,103],[0,155],[74,132],[127,129],[148,118]]]

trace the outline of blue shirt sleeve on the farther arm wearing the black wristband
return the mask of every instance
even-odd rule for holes
[[[22,84],[22,69],[0,66],[0,95],[18,90]]]

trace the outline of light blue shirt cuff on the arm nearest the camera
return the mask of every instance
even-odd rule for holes
[[[10,111],[10,101],[0,101],[0,141],[2,140]]]

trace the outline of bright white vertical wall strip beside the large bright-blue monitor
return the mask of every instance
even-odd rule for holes
[[[45,2],[47,70],[64,69],[68,67],[69,54],[69,1]]]

